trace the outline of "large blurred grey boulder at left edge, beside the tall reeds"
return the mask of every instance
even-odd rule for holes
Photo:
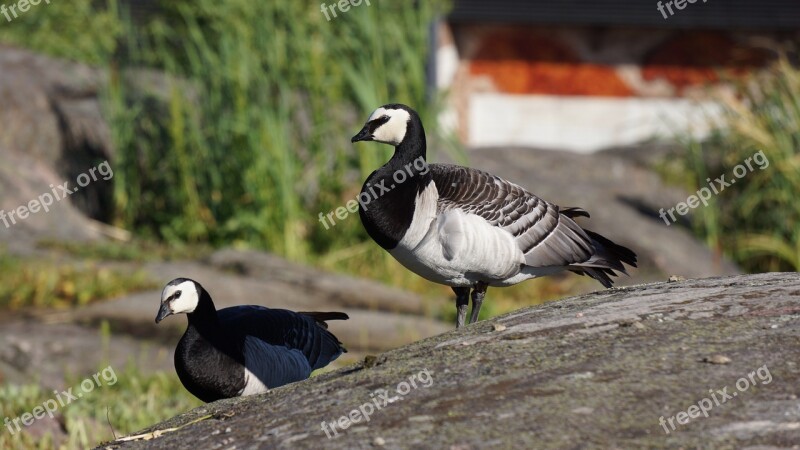
[[[103,161],[113,166],[110,131],[100,110],[105,83],[100,71],[0,46],[0,74],[0,209],[8,213],[53,196],[53,187],[64,182],[72,190],[79,174]],[[111,192],[111,181],[100,178],[54,199],[49,211],[0,221],[0,242],[27,253],[44,238],[104,236],[108,228],[89,217],[102,218],[100,205],[110,201]]]

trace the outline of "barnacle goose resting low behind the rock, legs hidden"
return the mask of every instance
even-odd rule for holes
[[[200,283],[176,278],[161,293],[156,323],[186,313],[189,326],[175,349],[175,370],[204,402],[253,395],[304,380],[346,352],[327,330],[341,312],[293,312],[243,305],[217,311]]]

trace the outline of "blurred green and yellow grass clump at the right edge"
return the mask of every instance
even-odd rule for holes
[[[702,142],[684,139],[683,157],[661,171],[689,192],[720,175],[738,180],[692,210],[696,233],[748,272],[800,271],[800,70],[781,59],[735,86],[719,97],[719,129]],[[734,176],[748,159],[753,170]]]

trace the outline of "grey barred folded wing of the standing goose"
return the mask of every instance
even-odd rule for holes
[[[592,239],[558,206],[522,187],[477,169],[431,164],[439,193],[437,213],[461,210],[509,232],[531,267],[567,266],[589,260]]]

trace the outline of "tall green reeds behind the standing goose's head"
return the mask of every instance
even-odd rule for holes
[[[130,76],[108,95],[125,165],[118,224],[293,259],[362,240],[357,219],[325,230],[317,214],[390,156],[350,143],[375,107],[413,105],[437,135],[425,62],[442,2],[373,1],[330,22],[311,1],[164,5],[163,18],[128,33],[126,54],[129,66],[171,75],[168,106],[133,95]]]

